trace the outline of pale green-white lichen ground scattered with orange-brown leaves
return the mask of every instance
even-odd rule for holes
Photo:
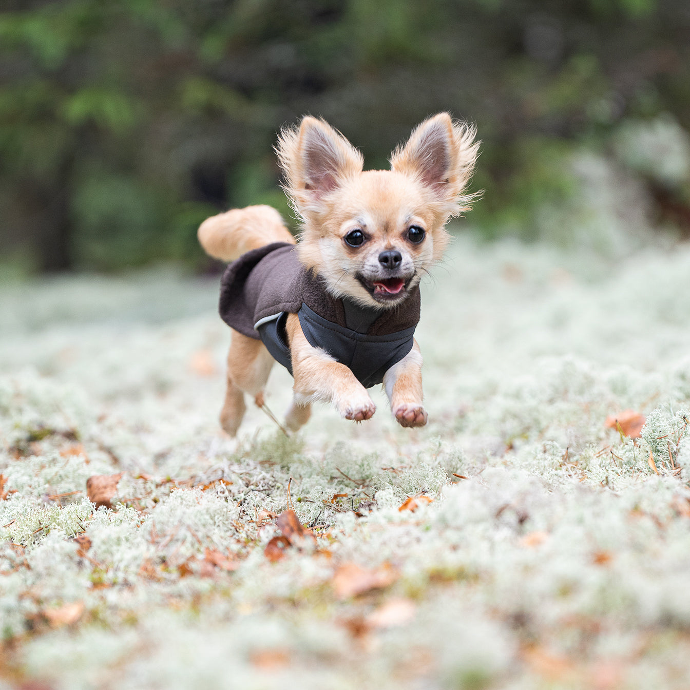
[[[459,237],[434,275],[426,428],[375,391],[370,422],[288,440],[252,408],[239,442],[216,279],[1,286],[0,688],[690,687],[690,247]],[[288,484],[317,550],[273,562]],[[390,584],[343,595],[351,562]]]

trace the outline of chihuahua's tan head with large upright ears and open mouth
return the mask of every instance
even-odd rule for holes
[[[418,126],[391,170],[363,171],[362,154],[323,120],[281,133],[286,192],[302,220],[299,257],[335,297],[400,304],[446,247],[444,226],[468,210],[462,192],[479,144],[442,112]]]

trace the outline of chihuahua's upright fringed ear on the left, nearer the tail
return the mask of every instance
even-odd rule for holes
[[[276,146],[286,192],[300,213],[319,210],[321,201],[342,181],[362,172],[362,154],[323,120],[305,117],[286,128]]]

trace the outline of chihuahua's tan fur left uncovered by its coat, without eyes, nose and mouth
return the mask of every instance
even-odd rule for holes
[[[286,193],[302,221],[299,259],[324,278],[334,297],[350,297],[379,309],[401,304],[422,273],[442,257],[449,239],[446,222],[469,209],[473,197],[463,195],[463,190],[477,157],[474,137],[472,127],[440,113],[418,126],[407,144],[393,153],[391,170],[363,171],[359,151],[326,122],[304,117],[299,127],[284,130],[277,152]],[[411,226],[426,232],[422,242],[408,239]],[[364,233],[362,246],[353,248],[344,241],[353,230]],[[250,249],[294,239],[273,208],[249,206],[204,221],[199,242],[211,256],[229,262]],[[400,295],[382,299],[377,288],[364,286],[362,275],[379,277],[380,257],[386,250],[400,253],[400,276],[406,283]],[[308,420],[314,400],[333,404],[348,420],[371,418],[376,407],[366,388],[344,364],[308,343],[297,315],[288,315],[286,331],[295,377],[288,428],[297,430]],[[245,393],[262,404],[272,364],[260,340],[233,331],[221,411],[221,425],[230,435],[242,422]],[[391,411],[402,426],[426,424],[421,368],[415,341],[412,351],[384,376]]]

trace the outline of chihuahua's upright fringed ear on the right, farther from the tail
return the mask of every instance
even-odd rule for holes
[[[473,126],[453,122],[440,112],[418,126],[404,146],[393,152],[391,168],[414,175],[440,202],[448,215],[469,210],[474,195],[462,195],[479,152]]]

